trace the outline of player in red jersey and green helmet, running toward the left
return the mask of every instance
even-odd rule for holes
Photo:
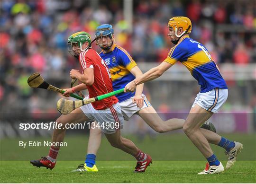
[[[82,84],[66,89],[64,96],[70,96],[71,93],[88,89],[91,98],[113,91],[112,81],[108,67],[101,56],[91,49],[91,36],[86,32],[77,32],[68,38],[69,53],[74,57],[78,57],[82,73],[79,70],[71,70],[70,77],[79,79]],[[116,96],[111,96],[101,101],[93,102],[88,105],[83,105],[80,108],[73,110],[72,113],[61,115],[56,122],[62,124],[61,128],[55,129],[52,142],[60,145],[63,142],[66,124],[83,123],[86,121],[95,121],[98,127],[104,132],[108,141],[113,147],[122,149],[128,154],[137,159],[137,165],[144,165],[143,169],[136,172],[144,172],[146,167],[152,162],[149,155],[143,153],[137,146],[128,139],[121,136],[120,129],[123,127],[123,115]],[[91,128],[93,128],[91,126]],[[96,127],[94,127],[96,128]],[[58,144],[57,144],[58,143]],[[34,166],[44,166],[46,168],[54,168],[56,158],[60,146],[51,146],[47,157],[42,157],[38,160],[31,160],[30,163]],[[91,158],[93,159],[93,158]],[[95,158],[94,158],[95,159]],[[90,168],[92,171],[98,171],[97,168]]]

